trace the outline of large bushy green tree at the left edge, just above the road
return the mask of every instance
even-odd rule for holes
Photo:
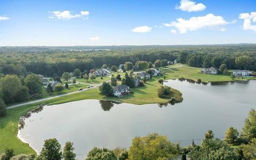
[[[3,92],[2,98],[7,104],[17,102],[15,98],[18,96],[22,86],[17,75],[5,75],[0,79],[0,88],[2,88]]]

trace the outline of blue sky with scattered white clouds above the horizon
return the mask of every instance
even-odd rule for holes
[[[230,43],[256,43],[255,0],[0,1],[0,46]]]

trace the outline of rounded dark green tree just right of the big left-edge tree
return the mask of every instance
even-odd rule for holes
[[[24,84],[29,89],[29,94],[42,94],[42,79],[36,74],[29,74],[24,80]]]

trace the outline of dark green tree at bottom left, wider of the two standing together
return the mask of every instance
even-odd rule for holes
[[[45,160],[61,160],[61,145],[57,139],[46,139],[39,157]]]

